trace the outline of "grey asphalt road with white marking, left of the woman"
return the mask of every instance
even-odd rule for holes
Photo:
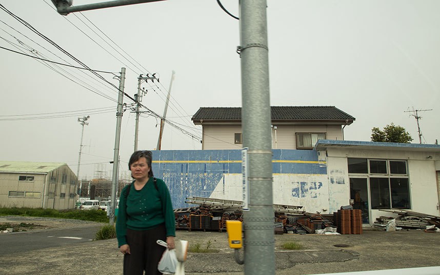
[[[90,242],[100,227],[101,225],[0,234],[0,256]]]

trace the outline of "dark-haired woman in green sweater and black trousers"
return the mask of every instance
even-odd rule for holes
[[[153,177],[151,151],[136,151],[128,167],[134,181],[119,198],[116,235],[124,254],[124,274],[162,274],[157,270],[166,241],[174,249],[175,218],[170,192],[164,181]]]

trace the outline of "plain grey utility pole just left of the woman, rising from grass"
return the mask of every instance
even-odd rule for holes
[[[121,78],[119,79],[119,89],[117,96],[117,111],[116,111],[116,134],[114,139],[114,154],[113,154],[113,175],[111,185],[111,207],[107,209],[107,215],[110,218],[110,224],[114,224],[114,210],[116,208],[116,187],[117,187],[117,172],[119,164],[119,139],[121,138],[121,121],[122,121],[122,107],[124,100],[124,85],[125,85],[125,68],[121,68]]]

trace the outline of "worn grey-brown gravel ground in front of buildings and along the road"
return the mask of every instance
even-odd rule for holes
[[[77,227],[97,223],[29,217],[0,217],[3,221],[26,221],[55,227]],[[218,250],[216,253],[188,254],[187,275],[243,274],[228,248],[225,232],[183,231],[176,238],[190,244]],[[440,233],[419,231],[385,232],[365,228],[362,235],[275,235],[277,275],[322,274],[425,266],[440,266],[438,244]],[[282,244],[294,241],[302,250],[286,251]],[[344,247],[338,247],[343,245]],[[96,251],[84,253],[84,251]],[[243,252],[243,251],[242,251]],[[122,274],[123,257],[115,239],[93,241],[65,247],[47,248],[26,253],[7,254],[0,258],[0,274]],[[257,264],[257,263],[246,263]],[[438,268],[440,274],[440,267]]]

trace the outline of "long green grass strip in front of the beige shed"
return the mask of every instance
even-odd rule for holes
[[[44,218],[58,218],[58,219],[72,219],[91,221],[98,223],[108,223],[107,213],[101,210],[55,210],[44,208],[0,208],[0,216],[16,215],[24,217],[44,217]]]

